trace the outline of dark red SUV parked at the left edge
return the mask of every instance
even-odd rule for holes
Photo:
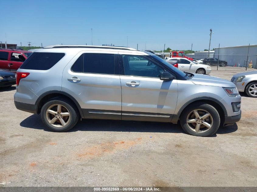
[[[31,54],[18,49],[0,49],[0,69],[16,71]]]

